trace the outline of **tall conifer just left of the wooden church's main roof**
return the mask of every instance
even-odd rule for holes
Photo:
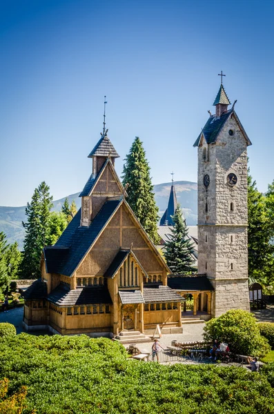
[[[36,279],[41,275],[41,251],[43,246],[46,245],[51,208],[52,197],[50,196],[50,188],[43,181],[38,188],[35,188],[32,201],[26,206],[27,221],[22,223],[26,229],[21,264],[21,275],[23,278]]]

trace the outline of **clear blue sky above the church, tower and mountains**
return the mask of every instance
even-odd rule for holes
[[[153,183],[197,181],[193,143],[224,86],[253,142],[259,190],[274,179],[273,1],[13,0],[0,3],[0,205],[42,180],[81,190],[104,95],[117,172],[135,136]]]

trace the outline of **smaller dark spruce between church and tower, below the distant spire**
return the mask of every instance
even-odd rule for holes
[[[171,229],[171,239],[166,242],[166,251],[164,256],[168,267],[174,274],[188,275],[197,271],[194,265],[194,259],[191,255],[193,243],[188,237],[188,228],[182,215],[181,207],[177,206],[173,215],[174,226]]]

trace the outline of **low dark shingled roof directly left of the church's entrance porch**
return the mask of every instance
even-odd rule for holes
[[[59,284],[47,299],[57,306],[112,304],[106,286],[85,286],[70,290],[66,285]]]

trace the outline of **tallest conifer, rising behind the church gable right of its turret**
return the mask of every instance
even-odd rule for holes
[[[124,186],[128,184],[128,204],[150,239],[158,244],[157,222],[159,220],[159,209],[155,203],[146,152],[139,137],[135,137],[125,161],[122,183]]]

